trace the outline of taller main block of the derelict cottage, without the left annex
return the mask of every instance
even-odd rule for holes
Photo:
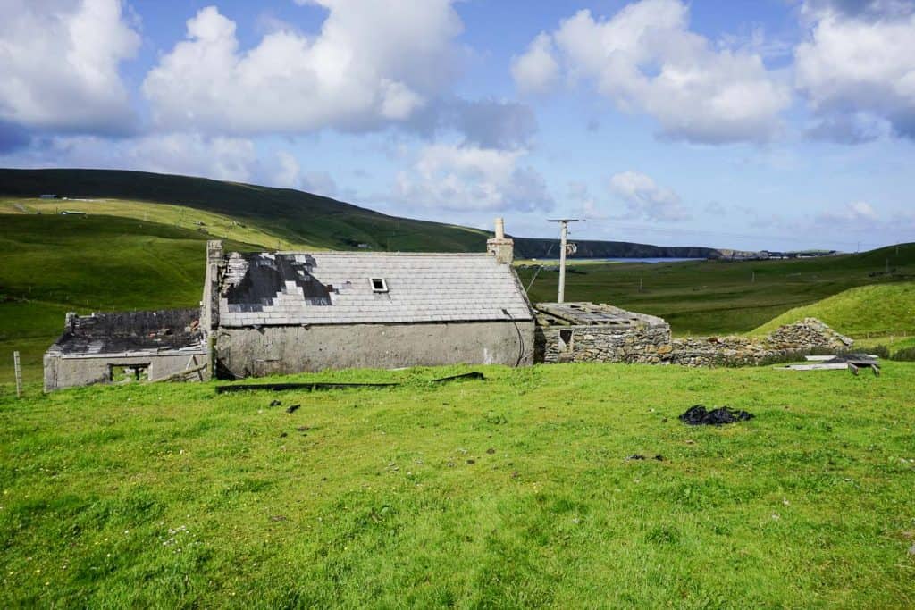
[[[533,311],[486,253],[223,253],[210,242],[202,321],[228,377],[533,362]]]

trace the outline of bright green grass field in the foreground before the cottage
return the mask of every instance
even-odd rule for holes
[[[915,605],[915,364],[463,370],[0,386],[0,605]]]

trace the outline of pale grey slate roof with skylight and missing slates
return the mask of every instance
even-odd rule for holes
[[[221,326],[533,319],[511,265],[485,253],[232,252],[220,293]]]

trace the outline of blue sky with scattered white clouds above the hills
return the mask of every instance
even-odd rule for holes
[[[851,251],[915,239],[913,151],[912,0],[0,5],[0,166]]]

